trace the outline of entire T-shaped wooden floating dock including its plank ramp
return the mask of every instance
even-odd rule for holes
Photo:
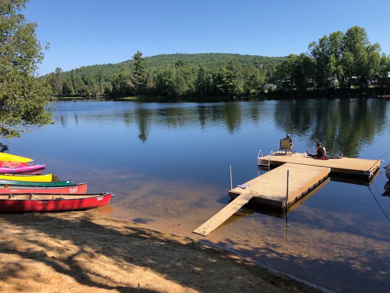
[[[245,182],[244,185],[249,185],[246,189],[231,189],[229,196],[233,200],[193,233],[206,237],[248,202],[286,209],[287,214],[290,204],[298,202],[305,195],[315,193],[319,186],[326,184],[330,172],[370,180],[378,173],[380,159],[375,161],[343,157],[318,160],[305,154],[285,155],[284,152],[271,152],[271,155],[258,157],[257,165],[267,166],[269,171]],[[271,166],[277,168],[270,170]]]

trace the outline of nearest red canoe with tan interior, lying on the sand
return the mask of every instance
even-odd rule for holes
[[[94,209],[106,205],[112,193],[92,194],[42,194],[0,193],[0,213],[60,212]]]

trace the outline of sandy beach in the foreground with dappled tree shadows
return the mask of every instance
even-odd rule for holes
[[[233,252],[97,209],[0,218],[2,292],[320,292]]]

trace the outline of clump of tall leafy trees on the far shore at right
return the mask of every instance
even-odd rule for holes
[[[332,32],[308,46],[308,54],[289,55],[277,67],[280,84],[288,90],[339,88],[343,94],[352,86],[367,89],[390,72],[389,56],[380,54],[378,43],[371,44],[362,27]]]

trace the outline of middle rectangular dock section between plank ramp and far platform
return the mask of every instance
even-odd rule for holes
[[[244,184],[249,184],[247,189],[236,187],[229,191],[232,198],[238,197],[244,191],[257,192],[250,201],[271,205],[283,209],[286,204],[287,170],[289,170],[289,204],[299,200],[303,195],[323,182],[330,173],[330,168],[285,163],[261,176],[258,176]]]

